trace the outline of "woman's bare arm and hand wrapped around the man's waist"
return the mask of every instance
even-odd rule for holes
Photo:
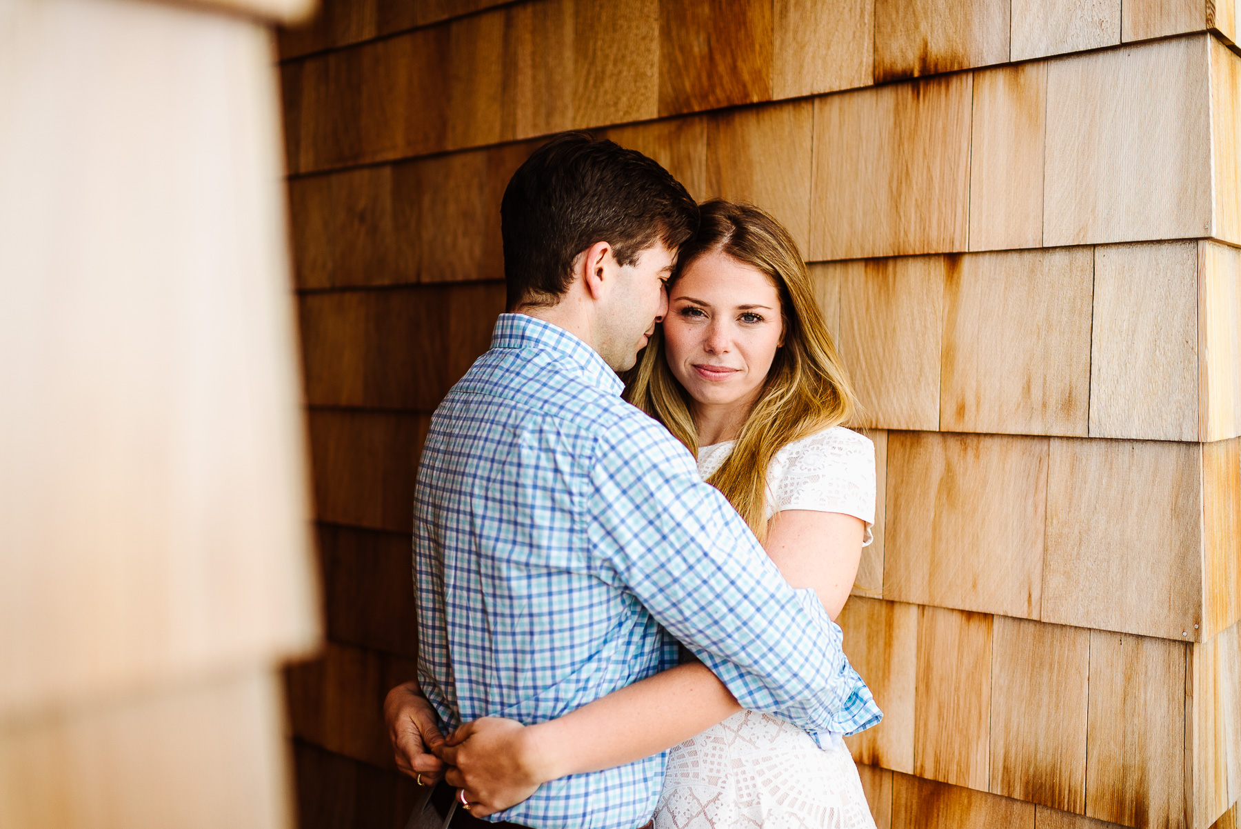
[[[793,587],[810,587],[834,619],[853,588],[865,525],[840,513],[789,510],[771,520],[764,545]],[[686,663],[613,691],[557,720],[469,722],[436,753],[447,781],[464,788],[474,815],[506,809],[547,781],[649,757],[741,710],[701,663]]]

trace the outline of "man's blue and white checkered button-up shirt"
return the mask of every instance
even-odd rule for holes
[[[582,340],[504,314],[431,422],[418,470],[418,678],[449,728],[544,722],[678,661],[807,731],[881,716],[840,628],[793,589],[694,457]],[[670,634],[670,635],[669,635]],[[546,783],[490,819],[632,829],[665,755]]]

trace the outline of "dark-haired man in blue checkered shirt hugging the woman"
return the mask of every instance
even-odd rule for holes
[[[639,153],[570,133],[513,176],[501,221],[511,313],[437,410],[418,473],[419,683],[385,706],[401,768],[439,779],[423,748],[437,719],[560,717],[674,669],[678,640],[743,707],[808,731],[876,721],[814,593],[792,589],[685,447],[620,400],[616,372],[665,313],[696,227],[689,194]],[[634,829],[663,763],[563,777],[494,818]]]

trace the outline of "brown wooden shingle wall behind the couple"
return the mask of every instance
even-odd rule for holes
[[[494,6],[494,7],[485,7]],[[305,827],[400,827],[414,465],[499,200],[593,128],[792,230],[880,520],[845,649],[880,827],[1221,829],[1241,795],[1232,0],[334,0],[282,36],[324,552]],[[1231,812],[1230,812],[1231,809]]]

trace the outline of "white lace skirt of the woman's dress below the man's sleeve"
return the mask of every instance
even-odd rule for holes
[[[849,750],[742,711],[675,746],[655,829],[875,829]]]

